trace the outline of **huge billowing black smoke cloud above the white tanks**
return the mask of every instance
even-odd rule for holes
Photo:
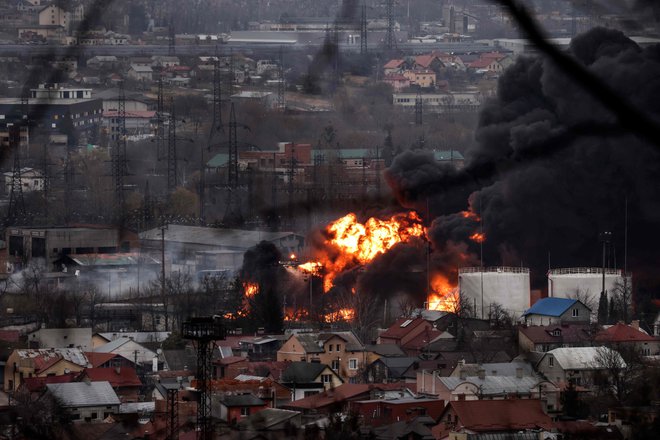
[[[618,31],[593,29],[570,50],[619,96],[660,115],[659,46],[641,49]],[[483,220],[485,263],[529,266],[537,286],[548,260],[599,266],[603,231],[615,239],[610,264],[622,268],[627,200],[628,268],[658,284],[651,268],[659,263],[660,154],[558,68],[518,59],[482,111],[476,138],[458,172],[420,152],[400,155],[388,170],[403,206],[425,212],[429,204],[436,246],[462,241],[477,251],[468,237],[478,218],[459,213],[470,210]]]

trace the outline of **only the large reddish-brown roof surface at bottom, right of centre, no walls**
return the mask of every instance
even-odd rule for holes
[[[471,431],[552,429],[552,419],[537,399],[464,400],[449,402],[459,422]]]

